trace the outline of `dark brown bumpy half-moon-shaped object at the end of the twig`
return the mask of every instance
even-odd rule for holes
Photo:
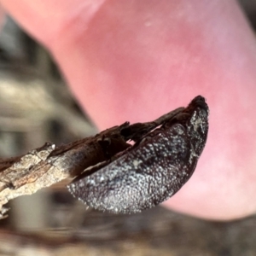
[[[198,97],[188,119],[152,131],[108,166],[71,183],[69,191],[110,212],[141,212],[166,201],[195,171],[207,140],[208,108]]]

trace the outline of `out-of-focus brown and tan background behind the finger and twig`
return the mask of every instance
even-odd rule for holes
[[[241,0],[256,29],[256,0]],[[117,124],[119,125],[119,124]],[[45,49],[8,18],[0,35],[0,157],[96,134]],[[1,255],[256,255],[256,215],[221,223],[163,207],[133,215],[86,209],[61,184],[9,203]]]

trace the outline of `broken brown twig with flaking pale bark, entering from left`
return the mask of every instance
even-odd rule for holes
[[[75,177],[89,166],[108,160],[114,154],[131,146],[120,131],[129,123],[114,126],[94,137],[55,148],[52,143],[33,149],[25,155],[0,159],[0,218],[9,200],[20,195],[31,195],[58,183],[67,177]]]

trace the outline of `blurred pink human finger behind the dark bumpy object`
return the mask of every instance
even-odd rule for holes
[[[235,0],[0,3],[51,51],[100,130],[205,96],[207,146],[164,205],[212,219],[255,212],[256,42]]]

